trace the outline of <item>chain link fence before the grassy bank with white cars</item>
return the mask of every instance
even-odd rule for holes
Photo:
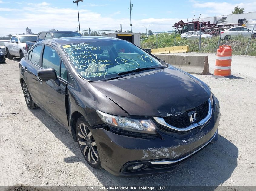
[[[142,48],[188,45],[191,52],[216,53],[221,45],[230,45],[233,54],[256,56],[256,26],[221,27],[186,33],[161,33],[141,38]]]

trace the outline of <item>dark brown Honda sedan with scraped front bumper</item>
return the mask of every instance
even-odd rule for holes
[[[210,87],[125,40],[43,40],[19,73],[27,106],[67,129],[96,169],[168,172],[218,140],[219,101]]]

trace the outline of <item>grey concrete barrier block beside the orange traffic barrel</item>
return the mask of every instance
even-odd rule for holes
[[[209,73],[208,56],[183,56],[175,54],[156,54],[155,56],[190,74],[205,75]]]

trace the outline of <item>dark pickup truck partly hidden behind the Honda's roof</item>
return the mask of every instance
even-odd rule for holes
[[[38,33],[37,39],[34,41],[26,42],[26,49],[28,50],[37,42],[41,40],[47,40],[52,38],[62,38],[62,37],[80,37],[82,36],[80,33],[73,32],[73,31],[58,31],[58,30],[51,30],[51,31],[44,31]]]

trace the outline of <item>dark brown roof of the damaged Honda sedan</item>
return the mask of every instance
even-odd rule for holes
[[[108,41],[108,40],[120,40],[113,37],[100,37],[100,36],[80,36],[80,37],[62,37],[62,38],[53,38],[48,40],[42,40],[42,44],[58,44],[59,46],[73,43],[86,43],[86,42],[98,42],[98,41]]]

